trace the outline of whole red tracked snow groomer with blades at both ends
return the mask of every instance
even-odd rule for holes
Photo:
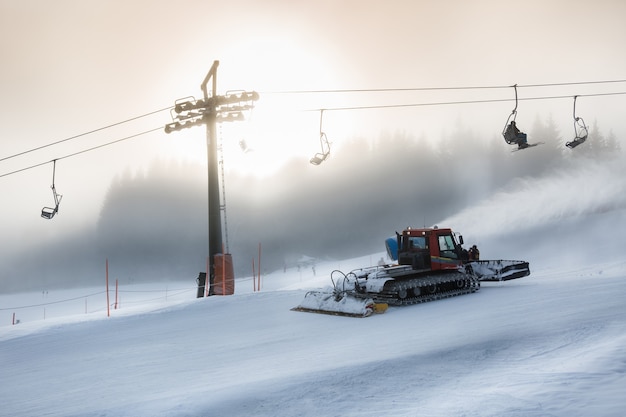
[[[481,281],[507,281],[530,275],[528,262],[469,260],[463,237],[437,227],[403,230],[385,240],[393,265],[333,271],[332,290],[309,291],[293,310],[367,317],[377,306],[401,306],[480,289]],[[335,279],[340,277],[340,280]],[[350,311],[346,313],[346,306]]]

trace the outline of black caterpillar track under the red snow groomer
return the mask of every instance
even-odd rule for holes
[[[416,288],[419,288],[419,291],[414,292]],[[479,289],[480,281],[473,276],[454,272],[406,280],[391,280],[385,283],[381,292],[367,292],[362,295],[371,297],[376,302],[401,306],[470,294]]]

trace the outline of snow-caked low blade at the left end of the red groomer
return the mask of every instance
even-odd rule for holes
[[[386,304],[375,303],[371,298],[359,298],[345,292],[336,295],[323,291],[309,291],[300,305],[291,310],[333,316],[369,317],[373,313],[383,313],[386,309]]]

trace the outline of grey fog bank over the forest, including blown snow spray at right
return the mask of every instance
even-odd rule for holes
[[[619,142],[596,129],[570,150],[549,118],[537,120],[529,134],[545,143],[511,152],[498,134],[479,140],[459,124],[437,145],[381,134],[344,141],[320,166],[295,158],[266,177],[229,172],[224,243],[237,277],[252,274],[259,244],[268,273],[302,255],[379,252],[407,226],[453,227],[466,243],[511,257],[498,253],[507,232],[626,205]],[[127,170],[108,187],[95,226],[4,259],[0,290],[97,284],[106,259],[122,282],[193,281],[206,268],[206,184],[206,166],[190,161]],[[515,212],[501,209],[511,206]]]

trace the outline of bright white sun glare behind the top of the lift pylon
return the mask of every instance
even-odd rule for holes
[[[332,88],[332,65],[323,52],[284,36],[244,39],[224,48],[218,57],[218,94],[233,90],[257,91],[260,99],[246,111],[244,121],[217,126],[224,167],[258,177],[271,175],[293,158],[305,163],[320,152],[320,110],[333,97],[320,99],[301,91]],[[328,100],[330,99],[330,100]],[[324,116],[332,134],[345,130]],[[335,118],[336,119],[336,118]],[[345,121],[345,119],[344,119]],[[183,134],[184,133],[184,134]],[[200,127],[176,132],[176,157],[206,165],[206,132]]]

